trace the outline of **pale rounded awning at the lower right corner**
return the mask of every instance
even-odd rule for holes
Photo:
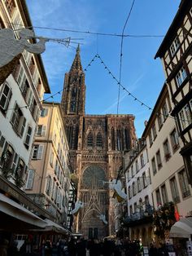
[[[177,223],[172,225],[170,237],[185,237],[190,238],[192,235],[192,217],[181,218]]]

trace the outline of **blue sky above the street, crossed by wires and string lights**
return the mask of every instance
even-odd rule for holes
[[[27,0],[33,26],[83,30],[97,33],[122,33],[132,1],[128,0]],[[165,35],[177,12],[180,0],[136,0],[124,34]],[[120,38],[36,29],[38,36],[83,38],[81,63],[85,68],[98,53],[117,78],[120,76]],[[160,60],[154,60],[163,38],[124,38],[121,83],[137,99],[153,107],[164,84]],[[72,44],[72,46],[76,46]],[[73,47],[47,42],[42,54],[52,94],[63,88],[76,54]],[[87,114],[117,113],[118,86],[96,60],[85,73]],[[60,96],[54,97],[59,101]],[[119,113],[133,114],[137,137],[151,111],[120,90]]]

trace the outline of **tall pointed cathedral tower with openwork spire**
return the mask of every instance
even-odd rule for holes
[[[85,73],[81,66],[80,46],[76,49],[76,56],[69,73],[65,74],[61,107],[69,148],[75,153],[80,118],[85,114]],[[74,156],[73,153],[72,156]]]

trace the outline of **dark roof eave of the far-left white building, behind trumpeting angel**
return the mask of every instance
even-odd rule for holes
[[[24,20],[24,24],[26,24],[27,27],[32,27],[33,28],[33,24],[32,21],[30,19],[30,15],[28,12],[28,7],[26,4],[25,0],[18,0],[17,1],[18,7],[20,8],[20,15],[22,16],[22,19]],[[33,38],[33,42],[36,43],[37,40],[35,38]],[[41,55],[35,55],[37,57],[38,60],[38,64],[39,64],[39,72],[41,74],[41,80],[43,85],[45,86],[45,92],[46,93],[50,93],[50,86],[49,86],[49,82],[47,80],[46,77],[46,71],[41,59]]]

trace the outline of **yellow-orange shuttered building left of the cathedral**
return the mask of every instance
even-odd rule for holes
[[[25,192],[67,226],[71,166],[60,104],[43,103]]]

